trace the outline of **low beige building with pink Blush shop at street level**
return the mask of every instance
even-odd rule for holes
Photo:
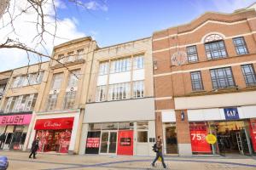
[[[26,148],[24,144],[30,136],[28,128],[32,113],[37,111],[42,99],[48,66],[49,62],[44,62],[3,73],[9,77],[9,81],[1,101],[3,112],[0,115],[0,149]]]

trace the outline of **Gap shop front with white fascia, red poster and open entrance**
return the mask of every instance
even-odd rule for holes
[[[210,117],[216,114],[215,117]],[[241,108],[189,111],[189,133],[193,154],[252,155],[255,150],[255,122],[244,118]],[[195,115],[197,113],[197,115]],[[197,116],[197,117],[196,117]],[[218,116],[218,117],[217,117]],[[209,120],[209,119],[216,120]],[[195,121],[197,119],[197,121]],[[204,121],[199,120],[205,119]],[[208,119],[208,120],[207,120]],[[192,122],[192,120],[194,120]],[[207,135],[213,134],[216,143],[209,144]]]

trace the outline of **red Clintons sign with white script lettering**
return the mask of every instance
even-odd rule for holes
[[[43,129],[72,129],[73,117],[63,117],[54,119],[38,119],[35,125],[36,130]]]

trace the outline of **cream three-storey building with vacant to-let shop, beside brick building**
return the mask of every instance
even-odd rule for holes
[[[154,154],[151,42],[148,37],[95,51],[80,154]]]

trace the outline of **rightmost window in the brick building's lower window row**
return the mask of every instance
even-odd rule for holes
[[[253,65],[241,65],[241,70],[247,86],[256,85],[256,74]]]

